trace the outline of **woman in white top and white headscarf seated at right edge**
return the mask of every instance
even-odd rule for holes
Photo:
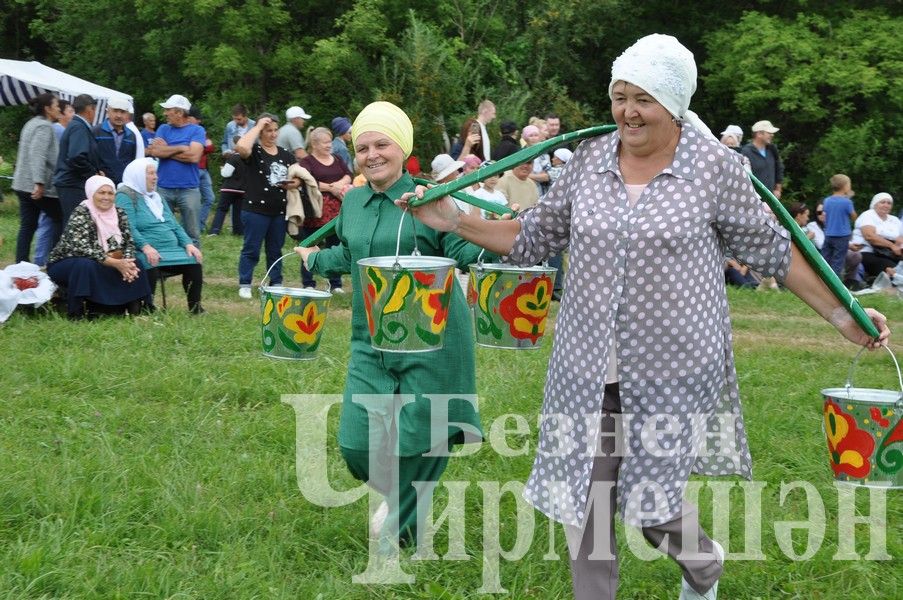
[[[852,241],[862,244],[859,251],[869,280],[881,272],[893,277],[897,263],[903,260],[903,224],[890,214],[893,207],[893,196],[879,192],[856,219]]]

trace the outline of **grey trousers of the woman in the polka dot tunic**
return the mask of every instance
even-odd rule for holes
[[[605,386],[602,402],[603,433],[611,434],[615,431],[614,419],[607,415],[620,412],[618,384],[608,384]],[[597,456],[593,462],[592,481],[617,482],[621,458],[610,456],[614,453],[615,440],[611,435],[606,435],[601,441],[599,454],[604,456]],[[618,549],[614,527],[616,486],[611,486],[610,490],[607,503],[600,502],[604,498],[597,498],[593,503],[582,534],[577,527],[565,526],[571,548],[571,579],[575,600],[614,600],[618,590]],[[594,523],[597,508],[607,508],[609,512],[607,519],[604,518],[605,515],[601,515],[601,522],[607,523],[607,527],[602,529],[596,528]],[[650,544],[677,561],[687,583],[700,594],[708,591],[721,576],[722,566],[715,558],[712,540],[699,526],[698,511],[689,502],[683,503],[678,518],[661,525],[644,527],[642,531],[643,537]],[[687,535],[689,537],[685,537]],[[575,543],[578,539],[579,548]],[[675,582],[675,597],[680,590],[679,583]]]

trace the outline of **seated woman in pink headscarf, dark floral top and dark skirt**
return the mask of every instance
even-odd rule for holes
[[[68,314],[136,314],[150,296],[147,276],[135,263],[135,244],[125,212],[114,204],[115,184],[95,175],[85,182],[87,200],[72,211],[50,253],[47,274],[67,290]]]

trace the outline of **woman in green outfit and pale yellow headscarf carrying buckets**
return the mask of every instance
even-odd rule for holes
[[[345,195],[336,221],[339,244],[295,251],[312,273],[351,274],[351,359],[339,446],[351,474],[385,496],[371,521],[371,532],[406,543],[417,539],[432,490],[448,464],[450,446],[482,439],[470,317],[463,293],[453,286],[441,350],[419,354],[375,350],[357,261],[394,256],[402,218],[402,255],[412,253],[415,236],[423,255],[453,258],[459,266],[474,262],[481,248],[454,234],[419,223],[415,227],[411,216],[395,205],[415,187],[403,169],[414,139],[404,111],[388,102],[374,102],[355,119],[351,137],[355,160],[368,183]],[[415,482],[426,484],[420,511]]]

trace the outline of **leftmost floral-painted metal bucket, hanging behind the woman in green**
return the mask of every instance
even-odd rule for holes
[[[279,260],[292,254],[294,252]],[[270,269],[275,265],[274,262]],[[267,270],[264,280],[269,275]],[[264,356],[284,360],[316,358],[332,294],[322,290],[264,286],[262,282],[259,289]]]

